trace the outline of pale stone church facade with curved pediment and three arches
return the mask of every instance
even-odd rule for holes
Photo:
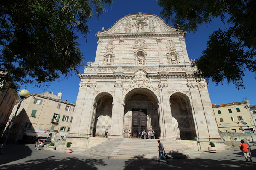
[[[92,137],[209,141],[218,133],[205,81],[196,81],[185,33],[153,14],[130,14],[96,34],[94,62],[79,74],[76,111],[67,140],[85,148]]]

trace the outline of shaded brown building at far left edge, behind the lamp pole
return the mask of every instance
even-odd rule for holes
[[[12,108],[18,99],[20,98],[17,91],[14,89],[7,88],[6,91],[0,92],[0,136],[6,127],[8,119],[12,113]]]

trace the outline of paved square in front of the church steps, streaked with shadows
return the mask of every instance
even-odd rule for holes
[[[157,149],[157,148],[156,148]],[[256,156],[256,146],[252,146],[252,155]],[[96,159],[84,156],[83,153],[64,153],[60,150],[35,150],[34,144],[7,145],[0,156],[1,170],[253,170],[253,162],[245,162],[239,147],[218,153],[205,152],[204,156],[193,159],[172,159],[169,164],[157,160],[144,159]]]

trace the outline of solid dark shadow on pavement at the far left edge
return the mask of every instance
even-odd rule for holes
[[[15,155],[13,154],[15,153]],[[0,164],[6,164],[12,161],[31,156],[32,150],[26,145],[6,144],[3,154],[0,155]],[[4,157],[4,159],[2,159]]]

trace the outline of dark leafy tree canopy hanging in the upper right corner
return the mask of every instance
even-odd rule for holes
[[[244,71],[256,72],[255,0],[159,0],[161,16],[176,28],[195,32],[201,24],[220,17],[232,27],[216,30],[206,49],[195,60],[195,78],[212,79],[217,85],[227,80],[244,88]]]

